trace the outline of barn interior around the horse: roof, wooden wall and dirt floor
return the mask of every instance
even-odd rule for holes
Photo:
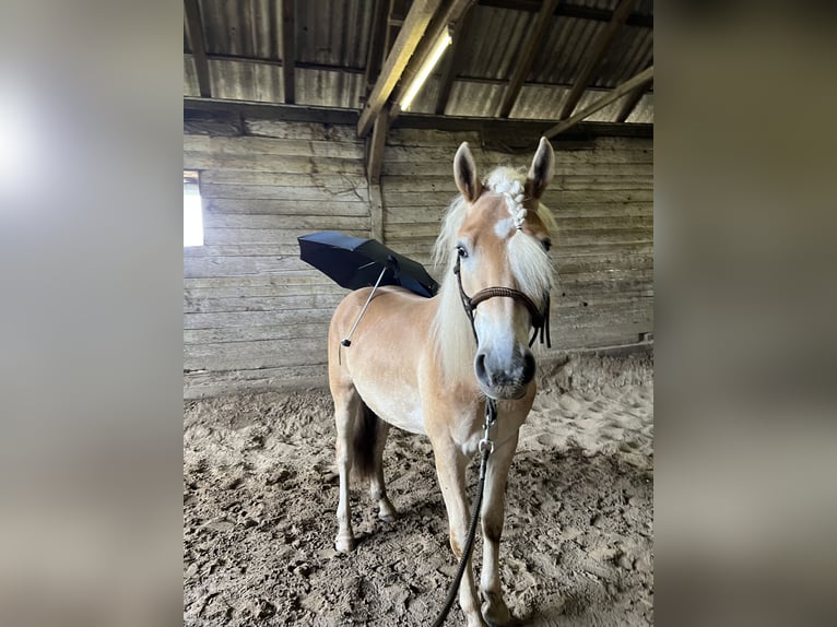
[[[652,35],[650,0],[185,0],[186,625],[432,622],[456,564],[426,439],[385,451],[402,519],[361,505],[358,548],[333,551],[347,291],[297,237],[373,237],[440,280],[457,147],[527,167],[541,137],[552,347],[509,477],[506,602],[531,625],[652,624]]]

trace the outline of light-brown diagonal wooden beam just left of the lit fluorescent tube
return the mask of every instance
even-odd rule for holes
[[[431,23],[440,3],[441,0],[416,0],[410,7],[410,12],[406,14],[403,26],[401,26],[401,32],[398,34],[396,43],[392,45],[392,50],[390,50],[384,63],[384,69],[378,80],[375,81],[375,87],[372,94],[369,94],[369,99],[366,100],[366,105],[361,113],[361,119],[357,122],[358,137],[365,137],[372,130],[375,119],[384,108],[399,79],[401,79],[410,57],[418,47],[427,25]]]

